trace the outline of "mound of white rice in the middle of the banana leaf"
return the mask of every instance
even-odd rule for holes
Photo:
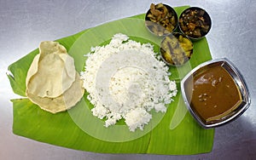
[[[153,45],[128,39],[118,33],[108,45],[91,48],[81,78],[95,106],[92,114],[106,118],[106,127],[124,118],[133,132],[149,123],[152,109],[166,112],[177,87]]]

